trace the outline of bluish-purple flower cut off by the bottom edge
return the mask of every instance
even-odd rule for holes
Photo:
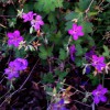
[[[58,102],[52,106],[52,110],[67,110],[64,105],[64,99],[61,99]]]

